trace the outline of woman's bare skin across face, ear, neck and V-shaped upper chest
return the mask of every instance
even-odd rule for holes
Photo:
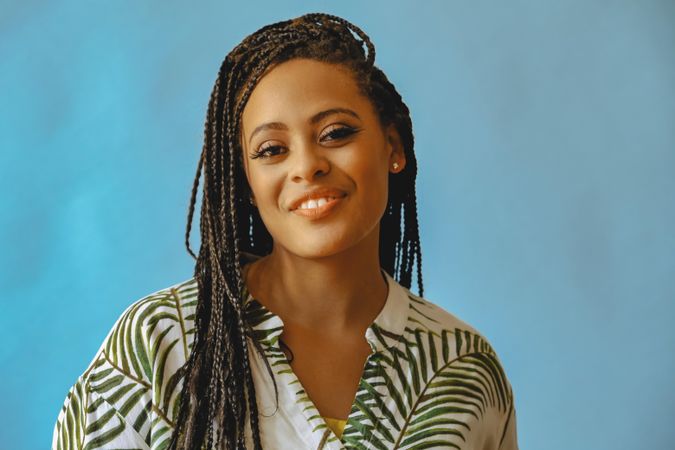
[[[353,114],[311,120],[335,108]],[[271,122],[282,129],[254,134]],[[270,255],[245,267],[247,286],[284,322],[293,370],[320,413],[346,418],[371,353],[366,329],[388,294],[379,221],[389,173],[405,166],[400,137],[393,125],[383,126],[347,68],[293,59],[271,68],[252,91],[241,144],[255,204],[274,241]],[[260,149],[267,157],[253,158]],[[293,200],[325,186],[347,194],[331,214],[310,220],[289,210]]]

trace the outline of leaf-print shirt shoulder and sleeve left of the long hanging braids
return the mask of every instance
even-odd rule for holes
[[[55,448],[145,448],[170,436],[180,369],[194,340],[197,292],[196,280],[188,279],[122,312],[68,393],[54,428]]]

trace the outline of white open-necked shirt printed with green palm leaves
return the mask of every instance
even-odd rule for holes
[[[319,414],[279,345],[283,321],[245,290],[263,448],[517,450],[513,392],[485,337],[382,273],[387,298],[366,330],[372,353],[340,436]],[[194,339],[197,291],[192,278],[124,311],[70,389],[53,450],[168,445],[183,382],[179,369]],[[278,408],[263,356],[250,339],[259,341],[274,370]],[[253,448],[250,422],[246,435],[247,448]]]

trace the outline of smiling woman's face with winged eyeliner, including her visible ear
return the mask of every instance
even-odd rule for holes
[[[405,156],[351,71],[310,59],[273,67],[241,128],[246,177],[275,249],[317,258],[379,237],[388,174]]]

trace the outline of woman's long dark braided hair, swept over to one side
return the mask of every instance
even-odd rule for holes
[[[247,418],[254,447],[262,448],[247,347],[252,330],[243,311],[241,258],[243,252],[269,254],[272,237],[249,202],[239,133],[244,106],[265,71],[293,58],[350,69],[381,123],[394,124],[399,132],[406,165],[401,172],[390,174],[387,207],[380,220],[380,264],[410,288],[416,262],[418,291],[423,295],[412,122],[401,96],[374,65],[375,48],[368,36],[352,23],[328,14],[306,14],[247,36],[227,55],[218,72],[190,197],[185,245],[196,260],[196,331],[190,357],[181,368],[183,386],[170,449],[245,449]],[[202,172],[197,256],[189,237]],[[250,341],[262,355],[256,339]],[[273,375],[267,359],[263,360]]]

